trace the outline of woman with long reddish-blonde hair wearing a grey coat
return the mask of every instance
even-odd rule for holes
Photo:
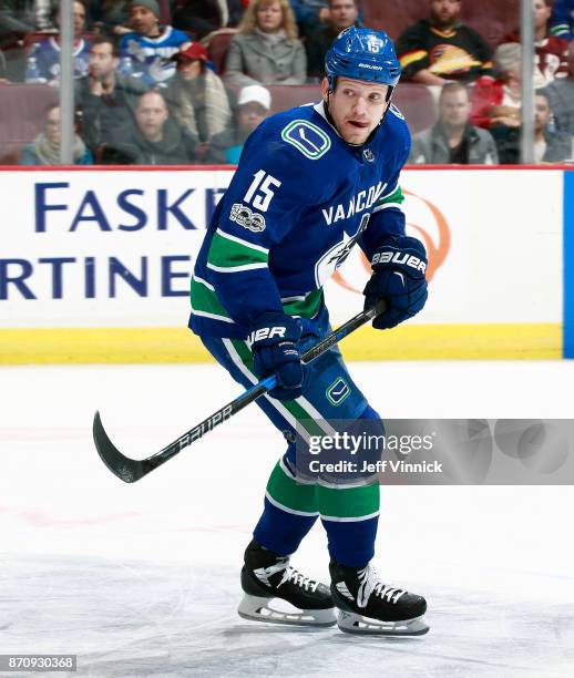
[[[307,58],[288,0],[253,0],[226,61],[232,84],[303,84]]]

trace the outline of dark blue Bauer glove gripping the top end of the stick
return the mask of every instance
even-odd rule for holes
[[[363,291],[365,309],[380,298],[387,301],[387,310],[375,318],[372,327],[396,327],[421,310],[428,291],[427,253],[420,240],[409,236],[389,238],[372,255],[371,267],[372,275]]]

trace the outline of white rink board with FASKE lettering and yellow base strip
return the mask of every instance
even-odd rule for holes
[[[0,363],[208,359],[185,329],[189,275],[232,171],[13,170],[0,170]],[[408,232],[429,251],[429,302],[396,330],[347,338],[345,355],[550,359],[572,350],[572,176],[407,170]],[[353,251],[327,284],[334,325],[362,307],[368,275]]]

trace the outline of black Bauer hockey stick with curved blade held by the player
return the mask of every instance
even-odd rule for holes
[[[341,327],[325,337],[322,341],[319,341],[319,343],[305,351],[301,357],[303,362],[307,363],[315,360],[321,353],[325,353],[325,351],[330,349],[335,343],[340,341],[344,337],[350,335],[357,328],[361,327],[361,325],[365,325],[375,318],[375,316],[382,314],[385,309],[386,304],[383,300],[381,300],[377,306],[373,306],[367,311],[361,311],[350,320],[347,320],[345,325],[341,325]],[[277,378],[275,374],[263,379],[258,383],[254,384],[250,389],[247,389],[238,398],[232,400],[232,402],[223,407],[221,410],[217,410],[217,412],[207,419],[204,419],[202,423],[187,431],[187,433],[180,435],[177,440],[174,440],[172,443],[163,448],[163,450],[160,450],[160,452],[152,454],[152,456],[142,460],[130,459],[117,450],[105,432],[100,412],[96,412],[93,423],[95,448],[102,458],[102,461],[112,473],[117,475],[117,477],[123,480],[125,483],[135,483],[154,469],[157,469],[157,466],[161,466],[168,459],[172,459],[172,456],[178,454],[184,448],[187,448],[196,440],[199,440],[199,438],[203,438],[205,433],[208,433],[215,429],[215,427],[219,425],[243,410],[254,400],[257,400],[259,396],[263,396],[267,391],[271,390],[276,383]]]

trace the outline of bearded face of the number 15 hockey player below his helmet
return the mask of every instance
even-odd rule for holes
[[[324,79],[322,97],[328,101],[337,131],[348,144],[363,144],[380,123],[388,106],[388,90],[383,84],[338,78],[335,92],[329,94],[327,79]]]

